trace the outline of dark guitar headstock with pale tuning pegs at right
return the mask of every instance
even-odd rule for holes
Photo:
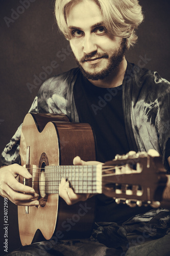
[[[102,193],[130,206],[160,202],[167,182],[165,174],[159,154],[116,155],[103,165]]]

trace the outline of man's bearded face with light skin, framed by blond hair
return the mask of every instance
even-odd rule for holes
[[[101,10],[92,0],[66,13],[70,46],[82,73],[91,80],[109,76],[123,60],[126,40],[108,33]]]

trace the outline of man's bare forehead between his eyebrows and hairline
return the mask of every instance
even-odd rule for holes
[[[102,23],[103,17],[98,5],[92,0],[83,0],[74,4],[66,12],[68,27],[87,29],[96,23]]]

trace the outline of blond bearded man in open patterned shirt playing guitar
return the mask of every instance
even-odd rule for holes
[[[57,0],[56,18],[60,30],[70,41],[79,68],[45,81],[30,112],[64,113],[71,121],[91,123],[98,147],[97,161],[105,162],[116,154],[153,148],[162,155],[168,168],[170,135],[169,131],[165,131],[164,124],[169,120],[169,83],[156,72],[140,69],[125,59],[125,51],[135,44],[135,30],[143,20],[138,1]],[[108,94],[107,104],[99,104]],[[106,100],[103,102],[106,103]],[[21,126],[2,153],[4,164],[20,163],[20,130]],[[85,163],[76,157],[74,164]],[[17,205],[38,205],[35,191],[16,181],[18,174],[29,178],[27,170],[16,164],[1,169],[1,195]],[[67,204],[73,204],[91,195],[75,194],[69,183],[62,180],[60,196]],[[168,210],[116,205],[113,199],[104,195],[96,196],[96,201],[96,221],[102,223],[96,224],[90,241],[69,242],[69,249],[64,242],[53,244],[56,251],[62,251],[64,255],[86,255],[89,251],[91,255],[124,255],[123,250],[126,251],[128,246],[140,244],[133,243],[133,239],[130,242],[127,240],[134,230],[143,234],[142,244],[151,240],[151,236],[154,239],[163,237],[165,240],[160,242],[164,248],[162,255],[170,251],[169,246],[165,246],[168,236],[164,236],[169,230]],[[133,218],[135,215],[138,216]],[[129,218],[131,220],[126,222]],[[161,220],[160,223],[157,223],[157,219]],[[165,219],[166,223],[163,221]],[[137,223],[140,224],[137,226]],[[135,241],[140,241],[141,234],[137,233]],[[45,242],[42,244],[45,246]],[[33,247],[28,249],[33,250]],[[80,247],[81,250],[78,249]],[[154,247],[155,243],[149,244],[148,250],[153,251]],[[137,252],[136,248],[129,249],[127,255],[143,253],[143,248]],[[38,252],[35,250],[34,254]],[[149,251],[144,253],[147,255]]]

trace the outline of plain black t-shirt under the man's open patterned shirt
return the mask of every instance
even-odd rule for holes
[[[80,122],[90,123],[93,127],[97,161],[106,162],[114,159],[116,154],[123,155],[133,150],[125,131],[122,86],[111,89],[96,87],[80,73],[74,86],[74,98]],[[96,196],[96,204],[96,221],[117,223],[151,209],[117,205],[105,195]]]

